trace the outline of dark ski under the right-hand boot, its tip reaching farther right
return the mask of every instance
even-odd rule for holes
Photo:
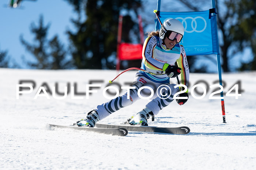
[[[153,132],[153,133],[167,133],[167,134],[188,134],[190,129],[186,126],[182,127],[155,127],[155,126],[141,126],[141,125],[112,125],[112,124],[95,124],[97,128],[125,128],[128,131],[138,132]]]

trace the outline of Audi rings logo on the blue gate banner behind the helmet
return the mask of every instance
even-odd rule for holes
[[[167,18],[167,19],[173,19],[173,18]],[[166,20],[167,20],[166,19]],[[203,18],[203,17],[201,17],[201,16],[197,16],[197,17],[195,17],[195,18],[193,18],[193,17],[190,17],[190,16],[188,16],[188,17],[185,17],[185,18],[182,18],[182,17],[177,17],[177,18],[175,18],[175,19],[177,19],[177,20],[182,20],[181,21],[181,23],[183,24],[183,26],[184,26],[184,24],[185,24],[185,28],[184,28],[184,30],[185,30],[185,32],[188,32],[188,33],[191,33],[191,32],[203,32],[205,29],[206,29],[206,26],[207,26],[207,23],[206,23],[206,20]],[[197,23],[198,22],[198,23]],[[189,28],[188,28],[188,25],[191,23],[191,28],[192,28],[192,30],[190,30]],[[203,25],[204,24],[204,27],[201,29],[201,28],[198,28],[197,27],[197,24],[198,25]],[[189,30],[187,30],[187,29],[189,29]]]

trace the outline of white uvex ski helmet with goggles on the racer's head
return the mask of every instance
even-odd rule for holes
[[[172,32],[177,33],[177,35],[173,34],[172,36],[170,36],[170,33]],[[181,36],[178,34],[180,34]],[[161,26],[159,36],[160,36],[160,39],[162,40],[165,39],[166,36],[168,38],[172,37],[171,40],[176,39],[177,43],[179,43],[183,35],[184,35],[184,27],[182,23],[177,19],[167,19]]]

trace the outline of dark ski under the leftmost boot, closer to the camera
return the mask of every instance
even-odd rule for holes
[[[56,125],[56,124],[48,124],[51,129],[54,128],[69,128],[75,130],[84,130],[89,132],[101,133],[101,134],[110,134],[110,135],[117,135],[117,136],[126,136],[128,131],[123,127],[118,128],[95,128],[95,127],[79,127],[74,125],[63,126],[63,125]]]

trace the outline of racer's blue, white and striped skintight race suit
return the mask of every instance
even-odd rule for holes
[[[179,75],[180,84],[184,84],[188,87],[189,82],[189,67],[187,62],[187,56],[185,54],[184,47],[177,43],[172,49],[166,48],[163,40],[158,36],[150,36],[144,42],[142,51],[142,66],[143,70],[147,70],[153,73],[163,73],[163,65],[168,63],[170,65],[177,64],[181,68],[181,74]],[[176,78],[175,78],[176,79]],[[161,85],[167,85],[169,88],[167,90],[162,90],[162,95],[160,93]],[[98,105],[95,110],[99,114],[99,119],[102,120],[106,116],[109,116],[113,112],[119,110],[120,108],[131,105],[136,102],[139,98],[138,90],[143,86],[148,86],[154,90],[154,95],[151,97],[151,101],[146,105],[154,115],[157,115],[160,110],[168,106],[173,101],[173,95],[180,91],[179,87],[174,88],[176,84],[170,84],[170,78],[166,75],[152,75],[143,71],[139,71],[131,87],[135,89],[129,90],[129,96],[127,97],[127,92],[124,95],[118,96],[109,102]],[[141,90],[145,94],[151,94],[151,91],[147,88]],[[169,96],[165,98],[165,95]]]

